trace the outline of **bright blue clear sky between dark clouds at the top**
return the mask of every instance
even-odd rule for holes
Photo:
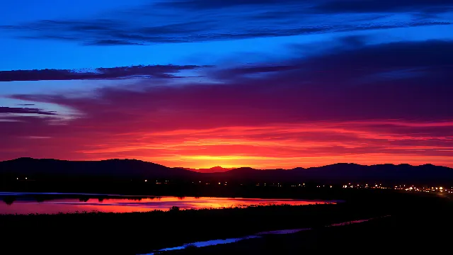
[[[164,8],[161,12],[172,12],[168,16],[168,19],[164,16],[155,17],[153,16],[153,7],[148,12],[138,12],[134,16],[136,8],[141,8],[143,5],[149,5],[150,3],[159,3],[159,1],[144,1],[134,0],[127,1],[127,4],[123,1],[8,1],[6,6],[0,10],[0,26],[33,26],[33,22],[37,21],[78,21],[82,22],[84,19],[96,23],[98,18],[113,18],[119,20],[118,22],[127,21],[127,23],[139,23],[137,26],[148,26],[148,23],[161,21],[161,23],[171,24],[178,23],[173,21],[175,16],[178,16],[178,11],[182,14],[181,16],[193,17],[193,11],[180,10],[176,8]],[[308,3],[308,2],[307,2]],[[285,6],[285,4],[282,4]],[[271,6],[272,7],[272,6]],[[243,18],[243,16],[250,16],[251,13],[268,13],[272,11],[272,8],[263,8],[263,11],[259,11],[259,8],[233,8],[239,10],[237,15],[231,15],[231,17],[220,18],[217,22],[229,22],[233,18]],[[274,8],[274,7],[273,7]],[[278,9],[278,8],[277,8]],[[253,11],[251,11],[253,10]],[[258,11],[257,11],[258,10]],[[282,8],[282,10],[287,10]],[[205,11],[206,13],[212,13]],[[1,70],[12,70],[12,69],[77,69],[77,68],[96,68],[96,67],[117,67],[123,65],[134,65],[134,64],[185,64],[190,62],[197,62],[196,64],[207,64],[213,62],[213,60],[222,60],[228,58],[229,55],[234,53],[272,53],[281,52],[286,45],[292,43],[310,43],[310,42],[322,42],[323,40],[332,40],[338,35],[348,34],[376,34],[375,40],[426,40],[428,38],[452,38],[453,32],[451,26],[423,26],[415,28],[407,28],[408,24],[417,22],[449,22],[452,18],[452,13],[441,13],[435,18],[415,18],[414,13],[331,13],[326,15],[323,13],[317,13],[316,15],[304,15],[306,19],[306,26],[338,26],[338,24],[345,23],[344,27],[354,26],[402,26],[403,28],[398,29],[386,29],[379,30],[356,30],[350,32],[338,32],[333,30],[332,32],[326,31],[326,33],[309,33],[307,35],[299,35],[297,33],[292,36],[251,36],[246,40],[231,40],[231,38],[225,38],[224,40],[205,40],[201,42],[184,42],[184,43],[155,43],[155,42],[144,42],[149,45],[109,45],[105,47],[94,46],[94,45],[81,45],[80,42],[64,41],[64,40],[25,40],[22,36],[31,34],[30,30],[27,31],[10,31],[2,30],[2,40],[0,41],[0,47],[4,49],[3,58],[4,61],[0,62]],[[200,11],[200,16],[202,11]],[[206,14],[207,15],[207,14]],[[355,17],[357,16],[357,17]],[[292,23],[297,21],[301,16],[288,16],[287,21]],[[368,21],[367,18],[372,19]],[[376,19],[374,19],[376,18]],[[198,18],[200,19],[200,18]],[[131,22],[132,20],[132,22]],[[137,21],[136,21],[137,20]],[[205,18],[206,21],[212,21],[212,19]],[[225,20],[225,21],[224,21]],[[201,19],[200,22],[204,21]],[[270,20],[273,21],[273,20]],[[256,21],[256,26],[263,26],[267,28],[270,26],[270,21]],[[285,18],[278,18],[277,21],[285,22]],[[304,26],[304,22],[300,22],[300,26]],[[39,25],[33,29],[38,29]],[[195,25],[199,26],[199,25]],[[231,26],[231,31],[241,30],[241,27],[234,28],[234,23],[227,23],[218,25],[219,29],[228,30],[228,26]],[[255,26],[255,25],[254,25]],[[271,29],[281,29],[282,25],[272,25]],[[259,27],[258,27],[259,28]],[[40,28],[42,29],[42,28]],[[57,29],[57,28],[55,28]],[[209,28],[200,28],[203,32]],[[57,30],[52,33],[63,33]],[[227,32],[231,32],[227,31]],[[81,36],[93,36],[91,31],[88,31],[86,35]],[[278,32],[278,31],[277,31]],[[34,33],[33,33],[34,34]],[[45,33],[44,33],[45,34]],[[379,38],[378,38],[379,37]],[[259,45],[259,47],[256,47]],[[285,51],[285,50],[283,50]],[[243,56],[244,57],[244,56]],[[247,57],[243,60],[244,62],[253,61],[248,60]]]

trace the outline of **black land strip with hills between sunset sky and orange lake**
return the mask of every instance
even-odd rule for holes
[[[289,170],[240,168],[206,174],[129,159],[70,162],[21,158],[0,162],[0,191],[336,199],[338,194],[344,196],[339,190],[345,183],[451,187],[453,169],[429,164],[333,164]],[[335,191],[315,190],[323,185],[332,185]]]

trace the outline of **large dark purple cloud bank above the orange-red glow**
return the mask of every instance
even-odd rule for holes
[[[135,86],[142,89],[138,91],[122,87],[98,89],[97,98],[102,100],[63,95],[11,97],[56,103],[95,119],[108,118],[110,114],[115,119],[156,114],[151,119],[160,121],[154,128],[163,123],[166,124],[162,128],[178,128],[180,123],[188,128],[214,128],[229,123],[268,125],[289,120],[306,123],[453,118],[449,111],[453,108],[449,98],[453,94],[449,72],[453,64],[452,41],[363,45],[355,50],[348,46],[357,45],[355,40],[343,43],[344,50],[294,57],[281,64],[217,67],[214,72],[207,72],[210,81],[202,84],[186,81],[182,87],[149,86],[148,81],[139,81]],[[412,72],[418,75],[408,75],[407,70],[415,70]],[[386,79],[376,78],[379,76]]]

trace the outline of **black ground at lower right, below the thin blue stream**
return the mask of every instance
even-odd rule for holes
[[[418,205],[412,202],[418,201]],[[453,201],[425,196],[390,217],[340,227],[315,227],[295,234],[265,235],[233,244],[164,251],[162,255],[205,254],[444,254],[451,249]],[[405,210],[405,209],[406,210]],[[396,208],[395,208],[396,209]]]

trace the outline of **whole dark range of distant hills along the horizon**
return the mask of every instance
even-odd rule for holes
[[[0,176],[28,176],[37,179],[171,179],[173,181],[230,181],[230,182],[384,182],[384,183],[453,183],[453,169],[424,164],[360,164],[338,163],[328,166],[294,169],[258,170],[249,167],[223,169],[170,168],[135,159],[102,161],[65,161],[57,159],[20,158],[0,162]],[[201,171],[200,171],[201,170]]]

